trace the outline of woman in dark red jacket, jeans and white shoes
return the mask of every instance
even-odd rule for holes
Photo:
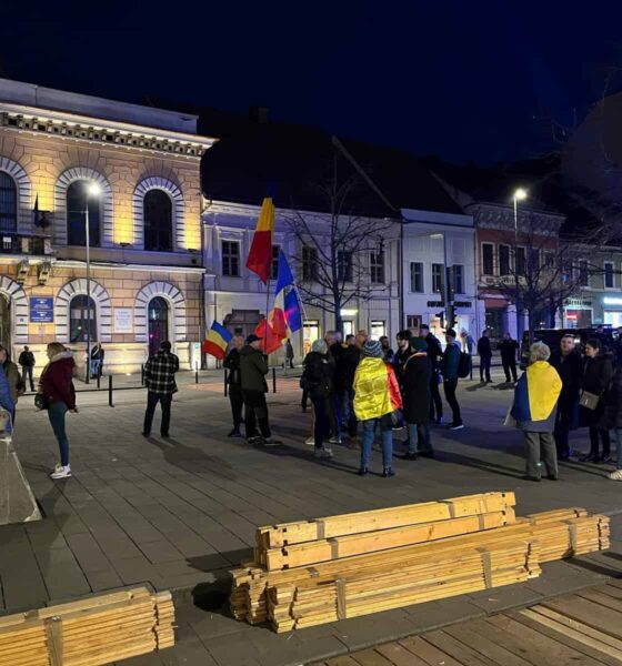
[[[48,404],[48,416],[60,448],[60,463],[57,463],[50,476],[68,478],[71,476],[71,467],[69,466],[69,441],[64,430],[64,415],[68,410],[74,414],[78,412],[76,390],[71,381],[76,362],[72,352],[60,342],[51,342],[48,345],[48,359],[50,362],[43,369],[39,380],[39,393],[43,394]]]

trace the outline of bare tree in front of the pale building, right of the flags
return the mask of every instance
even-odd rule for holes
[[[384,245],[397,228],[395,219],[364,214],[361,204],[369,194],[367,183],[347,164],[347,173],[340,178],[341,162],[333,151],[329,178],[311,186],[325,212],[294,211],[285,219],[288,233],[295,240],[293,260],[302,301],[332,313],[338,331],[342,330],[343,307],[388,289]]]

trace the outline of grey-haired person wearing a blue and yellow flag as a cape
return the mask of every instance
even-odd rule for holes
[[[530,347],[530,362],[516,383],[512,416],[523,431],[525,478],[540,481],[542,466],[546,478],[558,481],[558,455],[553,430],[555,407],[562,390],[558,371],[548,363],[551,350],[543,342]]]

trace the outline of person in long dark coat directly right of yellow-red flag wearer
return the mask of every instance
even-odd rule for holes
[[[402,376],[403,413],[409,435],[409,451],[404,458],[415,461],[418,455],[432,455],[429,425],[432,365],[423,337],[411,337],[410,349],[411,355]]]

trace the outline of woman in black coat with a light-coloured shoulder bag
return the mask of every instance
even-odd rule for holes
[[[590,453],[582,456],[580,461],[606,463],[610,460],[611,441],[605,416],[605,404],[609,398],[610,383],[613,379],[612,356],[603,350],[598,337],[588,340],[585,356],[581,389],[599,396],[599,402],[595,410],[580,407],[580,423],[590,428]],[[600,443],[602,443],[602,454],[599,451]]]

